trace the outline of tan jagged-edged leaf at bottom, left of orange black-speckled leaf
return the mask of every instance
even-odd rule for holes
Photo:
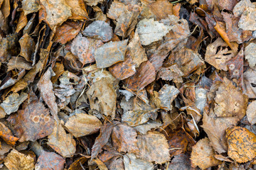
[[[214,154],[214,150],[210,146],[210,140],[207,137],[199,140],[196,145],[192,147],[192,166],[199,166],[201,169],[207,169],[210,166],[221,164],[218,159],[215,159]]]

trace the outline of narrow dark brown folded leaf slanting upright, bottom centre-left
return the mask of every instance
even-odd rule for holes
[[[107,123],[100,128],[100,135],[96,138],[95,144],[92,146],[92,159],[97,157],[97,155],[102,151],[102,147],[107,144],[113,128],[114,125],[112,123]]]

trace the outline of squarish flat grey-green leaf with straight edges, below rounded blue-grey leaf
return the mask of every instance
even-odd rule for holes
[[[124,61],[124,55],[127,50],[127,41],[107,42],[95,50],[95,60],[97,68],[106,68]]]

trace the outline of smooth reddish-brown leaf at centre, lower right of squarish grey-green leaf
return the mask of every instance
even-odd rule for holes
[[[140,91],[156,78],[156,71],[151,62],[143,62],[137,72],[128,79],[124,79],[124,85],[133,91]]]

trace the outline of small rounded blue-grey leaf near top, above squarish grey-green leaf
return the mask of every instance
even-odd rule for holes
[[[94,21],[82,31],[82,34],[107,42],[112,39],[113,30],[110,24],[105,21]]]

